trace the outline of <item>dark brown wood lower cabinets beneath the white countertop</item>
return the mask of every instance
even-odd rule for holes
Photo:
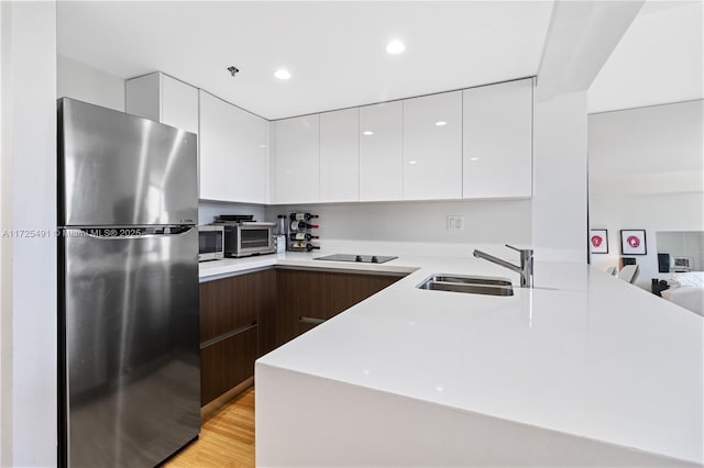
[[[257,357],[400,278],[276,268],[202,282],[201,404],[252,377]]]

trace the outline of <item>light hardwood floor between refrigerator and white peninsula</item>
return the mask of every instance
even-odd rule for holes
[[[254,466],[254,388],[202,423],[200,437],[165,467],[253,467]]]

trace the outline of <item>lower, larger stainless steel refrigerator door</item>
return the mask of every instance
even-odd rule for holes
[[[200,430],[198,232],[90,231],[61,237],[68,466],[151,467]]]

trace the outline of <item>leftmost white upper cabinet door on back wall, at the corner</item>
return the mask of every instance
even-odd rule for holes
[[[320,201],[320,115],[275,123],[275,202]]]

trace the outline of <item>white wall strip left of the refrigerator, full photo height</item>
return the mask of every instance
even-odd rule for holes
[[[56,4],[2,2],[4,466],[56,466]],[[45,230],[28,237],[18,230]],[[9,422],[8,422],[9,421]]]

